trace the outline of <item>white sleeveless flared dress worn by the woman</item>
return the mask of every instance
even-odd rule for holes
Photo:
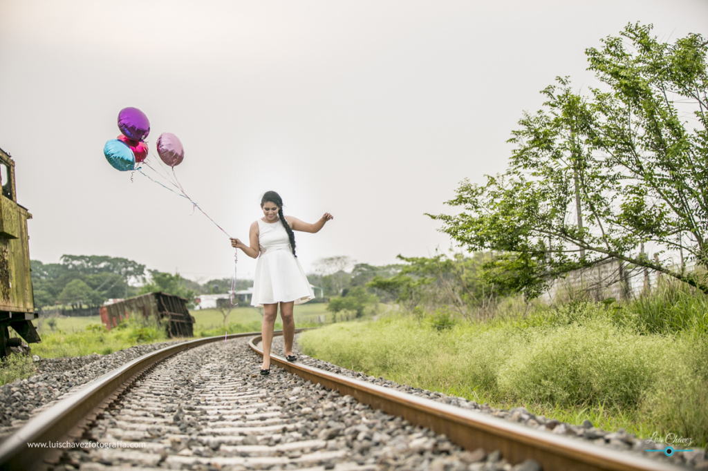
[[[282,222],[269,224],[258,219],[258,243],[261,254],[253,277],[251,306],[261,308],[263,304],[289,301],[302,304],[314,299],[307,276],[292,255],[290,238]]]

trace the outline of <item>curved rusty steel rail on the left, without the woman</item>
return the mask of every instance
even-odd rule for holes
[[[299,332],[306,329],[296,329]],[[281,332],[281,331],[278,331]],[[251,337],[258,332],[232,334],[224,337],[205,337],[165,347],[145,354],[130,363],[88,383],[84,388],[57,402],[30,419],[24,426],[0,443],[0,470],[35,470],[57,460],[67,448],[50,448],[52,444],[80,438],[83,427],[103,408],[113,402],[122,390],[137,379],[147,368],[173,354],[203,344],[224,339]],[[30,448],[29,443],[45,445]]]

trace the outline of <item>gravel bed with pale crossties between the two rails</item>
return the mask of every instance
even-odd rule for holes
[[[137,380],[86,431],[67,466],[190,470],[539,470],[372,410],[273,367],[247,339],[196,347]],[[144,444],[144,446],[140,446]],[[113,448],[118,446],[125,448]]]

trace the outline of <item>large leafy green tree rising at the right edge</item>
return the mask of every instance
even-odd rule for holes
[[[506,173],[462,182],[447,202],[462,214],[429,216],[467,249],[495,251],[484,277],[504,292],[533,298],[610,260],[620,274],[632,264],[708,292],[700,271],[685,269],[708,268],[708,43],[688,35],[668,45],[639,24],[603,42],[586,54],[610,91],[583,96],[558,79],[513,132]]]

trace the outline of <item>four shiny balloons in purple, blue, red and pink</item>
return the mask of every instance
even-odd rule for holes
[[[144,139],[150,134],[150,121],[144,112],[127,107],[118,113],[118,129],[120,136],[105,143],[103,155],[116,170],[136,170],[135,164],[147,158],[148,147]],[[183,161],[184,148],[177,136],[164,132],[157,138],[157,155],[174,168]]]

